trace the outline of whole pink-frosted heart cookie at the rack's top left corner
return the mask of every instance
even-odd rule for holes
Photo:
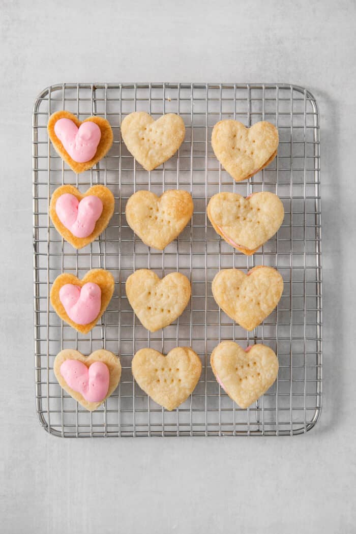
[[[91,124],[87,125],[87,122]],[[93,116],[80,121],[73,113],[64,110],[50,116],[47,130],[56,152],[77,174],[91,169],[104,158],[114,138],[106,119]]]

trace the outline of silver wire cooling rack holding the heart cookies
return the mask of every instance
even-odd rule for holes
[[[108,155],[80,175],[53,150],[46,124],[51,113],[67,109],[80,120],[100,115],[109,120],[114,144]],[[178,113],[186,137],[177,154],[147,172],[135,162],[120,137],[124,116],[146,111],[155,118]],[[267,120],[278,127],[276,159],[256,176],[236,183],[221,169],[210,145],[213,125],[236,119],[251,125]],[[292,435],[313,428],[321,410],[321,237],[318,106],[309,91],[286,84],[120,83],[52,85],[37,97],[33,112],[34,310],[36,407],[41,425],[63,437]],[[82,192],[104,184],[115,196],[115,213],[100,238],[75,251],[61,239],[49,218],[53,191],[74,184]],[[149,249],[128,227],[125,204],[132,193],[161,194],[175,188],[194,199],[191,224],[163,252]],[[272,191],[281,198],[285,217],[278,234],[253,256],[244,256],[221,240],[206,215],[209,198],[219,191],[244,196]],[[284,291],[276,310],[248,333],[221,311],[211,281],[222,268],[247,272],[255,265],[279,270]],[[51,308],[49,292],[61,272],[82,278],[91,268],[108,269],[115,292],[107,311],[88,335],[78,334]],[[133,314],[125,280],[135,269],[172,271],[192,282],[192,298],[183,315],[151,334]],[[246,347],[265,343],[278,354],[275,384],[247,410],[220,389],[210,354],[222,340]],[[133,381],[131,359],[143,347],[164,354],[188,345],[200,356],[202,375],[192,396],[173,412],[149,399]],[[53,360],[64,348],[84,355],[106,348],[120,354],[120,385],[90,413],[64,392],[53,374]]]

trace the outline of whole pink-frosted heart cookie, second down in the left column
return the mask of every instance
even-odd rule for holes
[[[93,198],[90,199],[89,197]],[[94,205],[93,209],[90,209],[90,204],[93,204],[93,200],[96,199],[99,199],[101,204],[101,211],[100,213],[97,211],[99,213],[97,218],[95,213],[93,214],[97,207]],[[83,202],[87,201],[86,206],[83,205]],[[104,185],[93,185],[84,194],[80,193],[73,185],[62,185],[52,194],[50,217],[62,238],[74,248],[80,249],[94,241],[101,232],[104,232],[113,216],[114,205],[114,195]],[[83,227],[88,228],[84,232],[88,234],[85,237],[77,237],[72,233],[83,234]]]

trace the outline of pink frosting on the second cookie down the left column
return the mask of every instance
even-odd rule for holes
[[[102,213],[102,202],[95,195],[84,197],[79,202],[74,195],[64,193],[57,199],[56,213],[60,222],[75,237],[88,237]]]

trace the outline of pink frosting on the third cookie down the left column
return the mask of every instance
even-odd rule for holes
[[[88,325],[100,313],[101,289],[93,282],[84,284],[82,288],[65,284],[59,290],[59,300],[74,323]]]

